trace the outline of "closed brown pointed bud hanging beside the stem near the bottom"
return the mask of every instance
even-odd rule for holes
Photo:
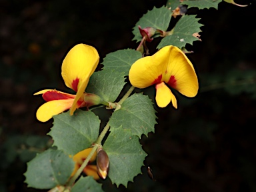
[[[109,171],[109,156],[100,148],[97,150],[97,173],[102,179],[106,179],[107,172]]]

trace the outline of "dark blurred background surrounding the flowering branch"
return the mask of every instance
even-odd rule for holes
[[[33,93],[68,90],[61,78],[65,53],[81,42],[96,47],[101,59],[119,49],[136,49],[138,43],[131,41],[135,23],[165,3],[0,1],[1,192],[46,191],[23,183],[26,162],[51,146],[46,133],[52,121],[35,119],[44,102]],[[155,133],[141,139],[149,154],[143,174],[128,189],[117,189],[107,179],[105,191],[256,191],[255,4],[221,2],[218,10],[189,10],[204,25],[202,41],[186,47],[193,51],[188,57],[199,76],[199,94],[190,99],[175,92],[179,109],[156,108]],[[147,166],[156,181],[148,177]]]

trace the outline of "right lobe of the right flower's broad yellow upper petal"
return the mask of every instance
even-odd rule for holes
[[[167,59],[168,65],[166,73],[163,75],[163,81],[181,94],[187,97],[195,97],[199,85],[197,74],[195,73],[191,61],[189,61],[187,56],[178,47],[170,45],[163,47],[161,50],[165,51],[163,54],[169,55],[169,58]]]

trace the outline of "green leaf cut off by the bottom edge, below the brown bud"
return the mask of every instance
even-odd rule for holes
[[[101,184],[97,183],[93,177],[80,177],[80,179],[72,187],[71,192],[103,192]]]

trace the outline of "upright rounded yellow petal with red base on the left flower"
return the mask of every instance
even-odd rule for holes
[[[85,44],[75,45],[67,53],[61,67],[61,75],[67,87],[74,91],[79,90],[81,84],[89,81],[98,63],[99,54],[94,47]]]

